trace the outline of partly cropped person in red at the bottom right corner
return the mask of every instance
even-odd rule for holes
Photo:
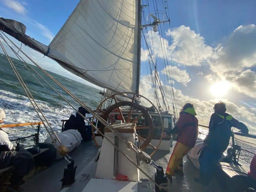
[[[248,175],[235,175],[231,178],[230,189],[231,192],[244,192],[248,188],[256,190],[256,154],[252,158],[250,164],[250,171]],[[251,191],[253,191],[251,189]]]

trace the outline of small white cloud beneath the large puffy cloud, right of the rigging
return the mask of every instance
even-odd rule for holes
[[[177,82],[184,84],[185,86],[189,81],[191,81],[191,78],[189,77],[189,74],[186,70],[181,70],[176,66],[166,66],[162,71],[162,74],[167,74],[169,77],[173,77]]]

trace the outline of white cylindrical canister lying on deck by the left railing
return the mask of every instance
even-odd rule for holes
[[[82,136],[79,133],[79,131],[70,129],[67,131],[63,131],[61,133],[56,133],[57,137],[59,138],[60,142],[62,145],[67,147],[68,153],[73,151],[76,147],[78,147],[82,141]],[[52,135],[54,140],[56,141],[57,145],[59,146],[60,143],[58,142],[57,138],[55,135]],[[56,145],[52,141],[51,137],[49,136],[44,143],[49,143],[52,144],[55,148]],[[58,152],[56,153],[56,159],[61,159],[63,156],[61,156]]]

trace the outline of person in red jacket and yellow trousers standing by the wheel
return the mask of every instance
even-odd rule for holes
[[[167,134],[178,134],[177,143],[174,146],[168,166],[166,168],[166,176],[172,182],[172,176],[175,173],[183,175],[182,164],[183,157],[195,146],[198,135],[198,120],[195,117],[196,112],[194,105],[186,103],[180,110],[179,119],[174,129]],[[182,172],[182,173],[181,173]]]

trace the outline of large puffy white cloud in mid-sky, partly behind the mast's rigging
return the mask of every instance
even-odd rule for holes
[[[154,60],[157,57],[169,60],[172,58],[173,61],[185,66],[201,66],[213,52],[212,47],[205,45],[203,37],[184,25],[166,32],[167,37],[172,37],[172,44],[158,32],[149,31],[145,35]]]

